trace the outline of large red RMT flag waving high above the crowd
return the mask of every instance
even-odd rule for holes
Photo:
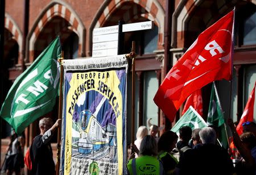
[[[193,91],[231,79],[233,22],[234,10],[202,32],[164,78],[154,101],[171,122]]]

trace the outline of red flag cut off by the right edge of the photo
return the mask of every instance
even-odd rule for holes
[[[243,133],[243,126],[242,124],[245,122],[253,122],[253,108],[254,108],[254,99],[255,99],[255,85],[253,87],[253,91],[251,91],[251,94],[249,96],[249,99],[246,103],[245,110],[243,110],[243,114],[241,116],[241,119],[237,125],[237,133],[238,135],[241,135]]]

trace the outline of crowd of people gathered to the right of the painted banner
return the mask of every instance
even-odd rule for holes
[[[224,149],[213,127],[181,127],[156,137],[159,128],[140,126],[128,151],[127,174],[256,174],[256,124],[243,123],[243,133],[228,119],[232,144]],[[149,134],[149,135],[148,135]],[[140,144],[138,144],[138,142]],[[235,155],[235,156],[234,156]]]

